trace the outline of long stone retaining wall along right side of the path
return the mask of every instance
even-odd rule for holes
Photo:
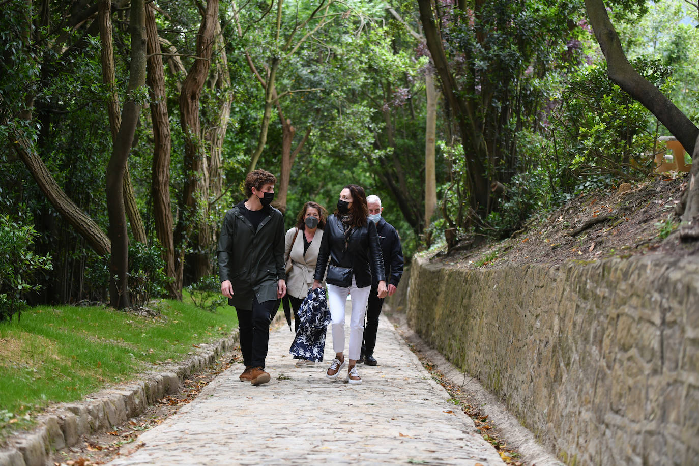
[[[699,261],[411,269],[410,326],[564,463],[699,464]]]

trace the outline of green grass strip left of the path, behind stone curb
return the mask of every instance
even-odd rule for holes
[[[238,326],[233,307],[205,312],[188,296],[158,307],[161,315],[148,317],[106,307],[41,306],[22,312],[19,323],[16,316],[0,323],[0,438],[31,427],[43,407],[182,361],[195,345]]]

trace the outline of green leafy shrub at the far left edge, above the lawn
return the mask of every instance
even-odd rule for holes
[[[21,319],[27,303],[22,299],[27,291],[41,288],[32,284],[38,270],[52,270],[51,256],[38,256],[31,245],[38,233],[34,226],[15,222],[0,214],[0,321],[10,321],[17,313]]]

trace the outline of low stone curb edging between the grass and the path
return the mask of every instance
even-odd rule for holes
[[[138,416],[145,407],[176,393],[191,374],[212,365],[238,343],[238,329],[212,344],[200,344],[198,354],[177,363],[168,372],[147,372],[133,384],[105,388],[82,402],[65,403],[38,418],[38,427],[11,438],[0,451],[0,466],[44,466],[52,450],[78,443],[82,435],[104,432]]]

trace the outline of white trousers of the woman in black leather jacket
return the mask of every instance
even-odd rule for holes
[[[349,359],[361,356],[361,340],[364,337],[364,315],[371,286],[357,288],[354,276],[349,288],[328,284],[328,307],[332,319],[333,351],[345,351],[345,303],[347,294],[352,297],[352,316],[349,317]]]

